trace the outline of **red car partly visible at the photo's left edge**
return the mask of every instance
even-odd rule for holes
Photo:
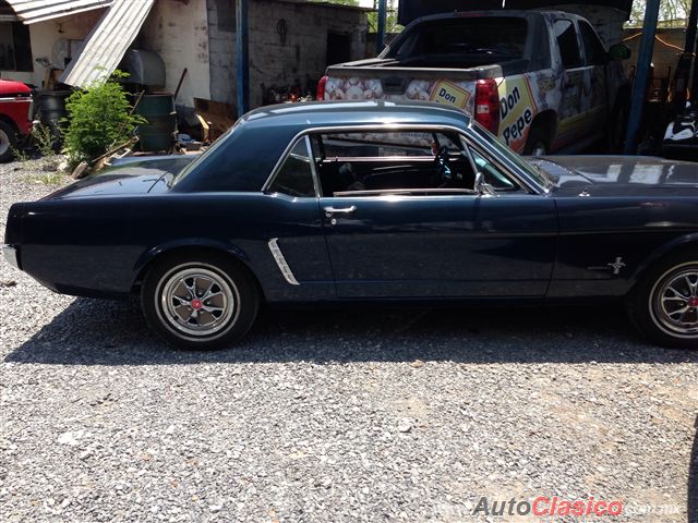
[[[32,132],[34,98],[22,82],[0,80],[0,162],[12,158],[12,147]]]

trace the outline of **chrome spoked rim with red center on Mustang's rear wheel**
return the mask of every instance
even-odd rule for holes
[[[238,292],[219,272],[206,267],[174,268],[158,291],[166,325],[190,338],[212,337],[238,314]]]

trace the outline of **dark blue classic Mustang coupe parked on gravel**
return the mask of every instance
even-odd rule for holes
[[[240,339],[262,301],[625,299],[655,342],[698,342],[696,165],[525,160],[434,104],[265,107],[190,165],[13,205],[5,243],[57,292],[140,293],[190,348]]]

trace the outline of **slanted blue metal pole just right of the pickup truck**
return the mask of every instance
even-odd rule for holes
[[[635,69],[635,82],[633,96],[630,97],[630,117],[628,119],[628,132],[625,137],[625,154],[634,155],[637,138],[642,124],[642,111],[647,98],[647,84],[650,80],[652,66],[652,51],[654,50],[654,36],[657,35],[657,22],[659,19],[660,0],[647,0],[645,8],[645,22],[642,23],[642,37],[640,50]]]

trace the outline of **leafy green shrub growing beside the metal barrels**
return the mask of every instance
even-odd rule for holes
[[[131,114],[131,105],[117,78],[128,76],[115,71],[112,76],[73,93],[65,102],[69,125],[64,149],[71,166],[93,160],[111,147],[127,142],[145,119]]]

